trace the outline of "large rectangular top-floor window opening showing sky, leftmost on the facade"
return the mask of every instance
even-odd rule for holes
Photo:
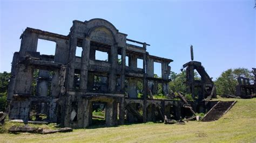
[[[56,42],[38,39],[37,52],[41,55],[55,55]]]

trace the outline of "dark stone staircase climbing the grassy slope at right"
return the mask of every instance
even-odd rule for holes
[[[221,118],[237,101],[219,101],[206,113],[201,121],[214,121]]]

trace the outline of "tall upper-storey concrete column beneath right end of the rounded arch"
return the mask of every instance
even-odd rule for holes
[[[109,91],[114,92],[116,91],[116,85],[117,85],[117,45],[111,46],[111,69],[110,69],[110,75],[109,75]]]

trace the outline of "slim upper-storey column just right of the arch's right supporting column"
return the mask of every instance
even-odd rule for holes
[[[125,92],[125,56],[126,47],[122,47],[121,92]]]

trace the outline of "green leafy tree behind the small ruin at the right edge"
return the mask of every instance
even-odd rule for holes
[[[235,86],[238,85],[237,78],[239,76],[250,78],[250,80],[253,80],[252,72],[246,68],[227,69],[226,71],[223,71],[220,77],[218,77],[215,81],[217,94],[234,95]]]

